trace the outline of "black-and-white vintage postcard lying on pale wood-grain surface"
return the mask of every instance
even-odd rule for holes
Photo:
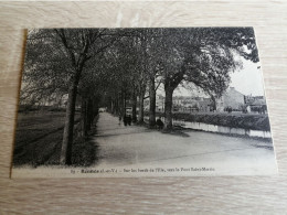
[[[253,28],[28,31],[12,178],[276,173]]]

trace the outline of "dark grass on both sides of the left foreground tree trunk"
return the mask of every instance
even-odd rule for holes
[[[65,112],[19,112],[15,132],[13,165],[57,165],[63,138]],[[76,114],[75,121],[79,116]],[[72,161],[74,165],[89,165],[94,161],[94,144],[75,139]]]

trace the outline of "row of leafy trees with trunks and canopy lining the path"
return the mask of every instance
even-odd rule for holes
[[[241,66],[240,56],[258,61],[251,28],[32,30],[21,100],[68,94],[61,163],[70,164],[77,97],[83,136],[99,104],[125,115],[131,100],[132,120],[142,122],[147,97],[152,127],[157,89],[162,85],[166,128],[171,129],[174,89],[183,82],[192,83],[215,99],[227,88],[230,73]]]

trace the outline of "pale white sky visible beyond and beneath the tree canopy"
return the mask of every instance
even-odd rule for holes
[[[231,73],[230,87],[235,87],[237,92],[244,95],[264,96],[261,63],[253,63],[251,61],[244,60],[243,57],[241,57],[241,60],[243,66],[234,73]],[[158,94],[164,95],[163,86],[159,87]],[[174,90],[173,96],[204,96],[204,94],[198,90],[192,92],[183,88],[182,86],[179,86]]]

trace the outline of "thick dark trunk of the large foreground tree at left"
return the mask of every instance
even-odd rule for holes
[[[73,144],[76,95],[77,95],[77,83],[74,82],[68,89],[65,127],[64,127],[61,159],[60,159],[60,163],[63,165],[72,164],[72,144]]]

